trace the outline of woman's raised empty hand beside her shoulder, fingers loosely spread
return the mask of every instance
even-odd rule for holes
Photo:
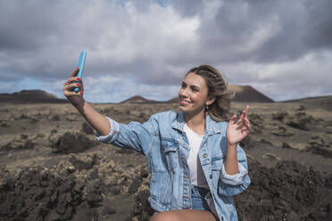
[[[226,138],[228,145],[235,145],[242,141],[246,135],[250,132],[250,122],[247,117],[247,113],[249,110],[249,105],[245,107],[240,119],[236,121],[237,115],[233,115],[229,119],[228,126],[226,129]]]

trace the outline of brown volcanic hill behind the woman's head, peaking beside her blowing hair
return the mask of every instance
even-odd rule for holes
[[[253,86],[228,85],[228,88],[236,93],[234,102],[274,102],[270,97],[254,89]],[[178,97],[167,102],[178,102]]]

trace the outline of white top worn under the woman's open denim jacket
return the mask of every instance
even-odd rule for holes
[[[187,139],[189,142],[189,157],[187,159],[187,164],[190,170],[190,180],[191,184],[196,186],[209,188],[201,165],[201,161],[198,157],[198,151],[200,149],[203,135],[197,135],[192,129],[190,129],[185,123],[183,130],[187,134]]]

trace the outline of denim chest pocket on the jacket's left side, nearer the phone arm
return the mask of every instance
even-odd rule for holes
[[[162,152],[167,168],[170,172],[174,172],[178,165],[178,143],[162,141]]]

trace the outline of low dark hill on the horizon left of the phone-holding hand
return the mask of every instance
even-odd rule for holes
[[[12,94],[4,93],[0,94],[0,102],[17,102],[17,103],[29,103],[29,102],[54,102],[54,103],[66,103],[65,99],[59,99],[54,94],[47,93],[43,90],[22,90]]]

